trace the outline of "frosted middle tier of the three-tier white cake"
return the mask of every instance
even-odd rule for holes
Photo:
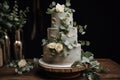
[[[69,27],[67,29],[68,33],[64,34],[63,32],[59,32],[59,28],[48,28],[47,33],[48,33],[48,40],[49,41],[54,41],[57,37],[61,37],[61,40],[63,42],[68,42],[70,44],[75,44],[77,43],[77,28],[76,27]]]

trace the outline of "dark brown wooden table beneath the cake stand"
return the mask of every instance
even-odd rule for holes
[[[111,59],[97,59],[105,68],[104,73],[100,73],[101,80],[120,80],[120,65]],[[57,78],[48,77],[49,73],[41,68],[34,69],[23,75],[17,75],[14,68],[0,68],[0,80],[59,80]],[[60,79],[61,80],[61,79]],[[66,80],[66,79],[65,79]],[[85,80],[77,77],[70,80]]]

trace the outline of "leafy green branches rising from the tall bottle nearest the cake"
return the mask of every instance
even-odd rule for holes
[[[11,21],[12,21],[12,29],[18,30],[21,29],[26,24],[26,13],[29,12],[29,8],[26,7],[26,9],[20,10],[19,6],[17,5],[17,1],[15,1],[13,10],[11,12]]]

